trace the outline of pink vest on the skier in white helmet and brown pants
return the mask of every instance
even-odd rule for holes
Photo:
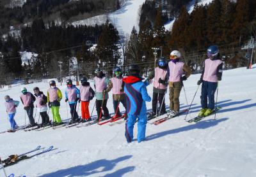
[[[169,81],[175,82],[175,81],[180,81],[180,78],[183,74],[183,65],[184,62],[169,62],[169,71],[170,71],[170,76],[169,76]]]

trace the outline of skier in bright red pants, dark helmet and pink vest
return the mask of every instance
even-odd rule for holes
[[[81,79],[80,90],[80,100],[81,101],[81,113],[82,113],[82,122],[90,121],[90,112],[89,112],[89,103],[93,99],[95,92],[92,87],[90,87],[90,83],[87,81],[85,77]]]

